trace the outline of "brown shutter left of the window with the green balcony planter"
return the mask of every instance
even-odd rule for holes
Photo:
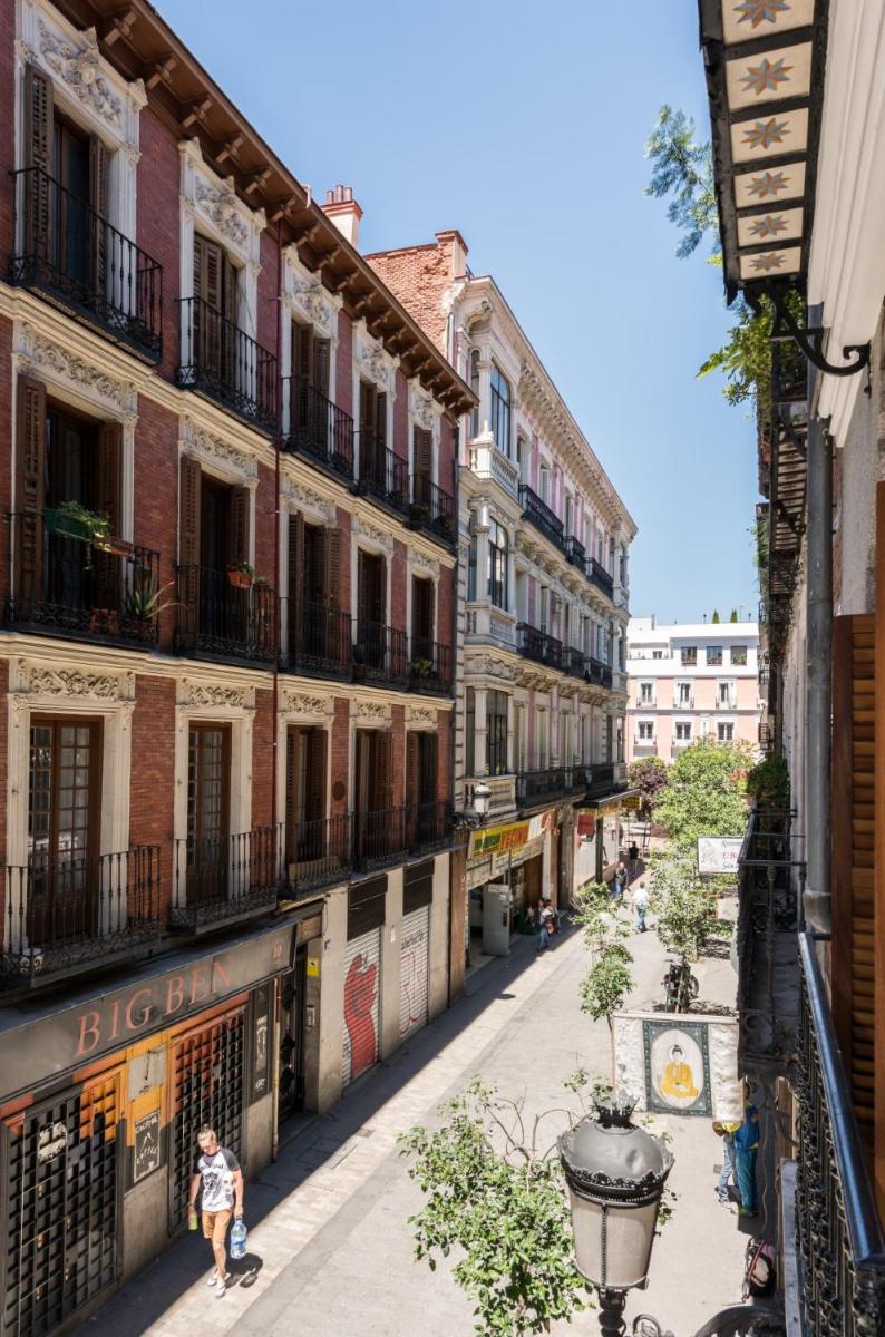
[[[43,579],[43,507],[45,504],[45,386],[19,377],[16,406],[15,507],[16,596],[39,598]]]

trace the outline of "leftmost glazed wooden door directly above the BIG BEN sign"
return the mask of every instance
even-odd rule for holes
[[[31,947],[98,931],[102,723],[31,721],[28,908]]]

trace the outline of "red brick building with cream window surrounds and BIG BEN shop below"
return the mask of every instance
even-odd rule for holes
[[[0,1332],[27,1337],[180,1227],[201,1123],[254,1174],[457,987],[473,397],[151,7],[0,0]]]

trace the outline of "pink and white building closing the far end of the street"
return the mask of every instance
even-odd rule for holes
[[[627,631],[627,758],[674,761],[699,738],[759,741],[755,622],[658,623]]]

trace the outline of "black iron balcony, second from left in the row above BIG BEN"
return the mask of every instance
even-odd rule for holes
[[[175,902],[170,928],[205,933],[266,913],[279,890],[279,830],[175,841]]]

